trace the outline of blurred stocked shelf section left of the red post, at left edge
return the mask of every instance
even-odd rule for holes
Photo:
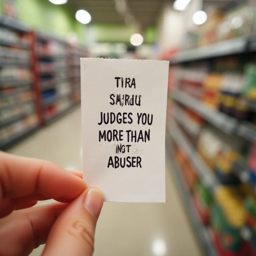
[[[0,149],[39,127],[32,75],[30,28],[0,17]]]

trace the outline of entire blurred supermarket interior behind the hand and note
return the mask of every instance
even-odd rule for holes
[[[80,57],[170,61],[166,204],[104,203],[94,255],[256,255],[255,0],[0,0],[0,14],[0,149],[66,169],[82,170]]]

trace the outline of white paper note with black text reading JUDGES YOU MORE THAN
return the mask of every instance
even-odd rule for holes
[[[83,173],[108,202],[165,202],[168,61],[81,59]]]

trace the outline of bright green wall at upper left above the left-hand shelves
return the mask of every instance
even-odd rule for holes
[[[3,1],[0,0],[2,9]],[[78,22],[68,4],[55,5],[48,0],[16,0],[19,19],[37,30],[46,30],[66,39],[76,32],[84,43],[85,25]]]

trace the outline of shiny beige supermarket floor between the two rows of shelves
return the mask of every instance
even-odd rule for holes
[[[81,146],[81,112],[77,108],[9,152],[82,170]],[[94,256],[201,255],[175,184],[166,169],[166,204],[104,203],[96,229]],[[31,255],[40,255],[42,248]]]

